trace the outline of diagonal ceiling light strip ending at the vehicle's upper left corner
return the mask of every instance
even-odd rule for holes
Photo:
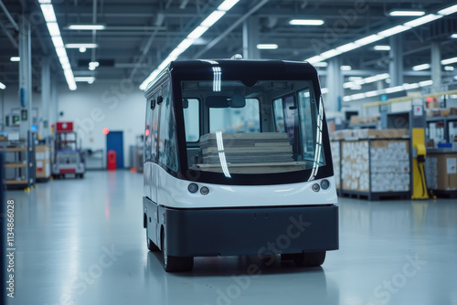
[[[239,0],[225,0],[222,2],[216,10],[207,16],[207,18],[203,20],[199,26],[190,32],[190,34],[187,35],[187,37],[177,47],[175,47],[175,49],[157,68],[154,69],[147,79],[143,80],[143,83],[140,85],[140,89],[146,89],[147,85],[153,81],[170,62],[178,58],[188,47],[192,46],[199,37],[201,37],[211,26],[218,22],[218,20],[237,3],[239,3]]]

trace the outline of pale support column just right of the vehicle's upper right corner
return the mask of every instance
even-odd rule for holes
[[[343,74],[340,68],[339,58],[330,58],[327,66],[327,98],[324,99],[325,109],[327,111],[341,110],[341,103],[344,96]]]

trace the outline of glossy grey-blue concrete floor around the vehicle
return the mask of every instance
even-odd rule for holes
[[[340,250],[322,268],[256,257],[197,258],[165,273],[145,247],[141,174],[90,172],[16,201],[9,304],[457,305],[457,202],[340,199]],[[246,276],[252,264],[256,276]]]

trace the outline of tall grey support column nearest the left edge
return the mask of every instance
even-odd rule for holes
[[[30,23],[22,16],[19,25],[19,100],[21,110],[27,111],[27,120],[23,121],[19,136],[27,138],[27,131],[32,129],[32,51],[30,38]]]

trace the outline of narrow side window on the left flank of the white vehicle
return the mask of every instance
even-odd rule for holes
[[[168,85],[164,86],[162,94],[164,101],[160,105],[159,161],[167,168],[176,172],[178,168],[178,161],[175,113],[173,111]]]

